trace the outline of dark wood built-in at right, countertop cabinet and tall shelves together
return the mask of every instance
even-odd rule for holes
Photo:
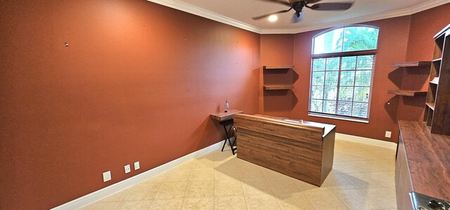
[[[413,208],[411,191],[450,200],[450,25],[434,38],[425,122],[399,121],[395,187],[401,210]]]

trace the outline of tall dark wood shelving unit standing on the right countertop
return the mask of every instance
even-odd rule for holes
[[[431,133],[450,135],[450,25],[434,38],[424,121]]]

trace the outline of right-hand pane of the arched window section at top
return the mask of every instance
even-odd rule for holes
[[[363,51],[377,48],[378,29],[372,27],[346,27],[343,51]]]

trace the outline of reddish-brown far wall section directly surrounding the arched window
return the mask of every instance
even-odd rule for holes
[[[295,71],[299,74],[299,80],[295,83],[295,94],[298,103],[293,109],[293,117],[315,122],[323,122],[337,125],[337,132],[347,133],[354,136],[363,136],[382,140],[393,140],[385,138],[385,131],[396,128],[395,112],[397,106],[389,103],[394,96],[388,95],[387,90],[395,88],[394,82],[388,79],[393,62],[404,61],[406,58],[406,44],[409,33],[409,17],[392,18],[366,22],[380,28],[378,37],[378,53],[375,63],[375,74],[373,78],[373,92],[370,110],[370,121],[368,124],[360,122],[349,122],[337,119],[308,116],[309,100],[309,78],[311,69],[311,40],[319,32],[305,32],[295,36],[294,64]],[[395,80],[395,79],[394,79]],[[395,133],[392,133],[394,136]]]

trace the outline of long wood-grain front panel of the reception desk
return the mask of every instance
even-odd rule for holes
[[[321,185],[321,145],[238,128],[238,158]]]

